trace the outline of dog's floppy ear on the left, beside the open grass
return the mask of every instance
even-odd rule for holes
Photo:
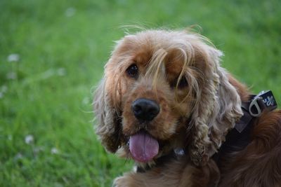
[[[112,101],[113,86],[105,76],[98,85],[94,97],[94,110],[97,125],[95,126],[101,143],[107,151],[115,153],[120,145],[119,139],[119,118],[114,102]],[[110,88],[112,87],[112,88]]]

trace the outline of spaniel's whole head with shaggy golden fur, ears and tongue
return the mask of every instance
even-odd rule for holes
[[[96,132],[107,151],[150,162],[184,148],[199,165],[242,116],[221,51],[184,31],[148,30],[117,42],[96,90]]]

